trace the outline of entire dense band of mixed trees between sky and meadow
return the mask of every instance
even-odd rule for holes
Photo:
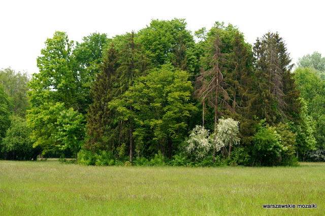
[[[324,61],[304,56],[293,72],[277,32],[250,45],[231,24],[192,34],[176,18],[76,44],[57,31],[37,63],[30,80],[0,73],[2,158],[42,151],[81,164],[185,166],[325,158]]]

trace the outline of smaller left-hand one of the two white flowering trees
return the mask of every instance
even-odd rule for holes
[[[188,143],[186,152],[196,157],[196,160],[205,157],[213,147],[209,136],[209,130],[200,125],[193,128],[186,142]]]

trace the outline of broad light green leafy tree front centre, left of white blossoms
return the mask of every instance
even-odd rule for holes
[[[134,119],[136,145],[151,143],[150,149],[155,153],[160,150],[161,154],[172,157],[177,143],[186,134],[187,119],[197,111],[190,102],[192,86],[188,77],[186,71],[163,65],[135,81],[122,99],[109,103],[125,120]]]

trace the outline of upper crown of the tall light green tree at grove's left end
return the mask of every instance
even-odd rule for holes
[[[33,74],[28,84],[31,106],[43,102],[64,102],[67,107],[78,109],[77,74],[73,69],[72,49],[65,32],[56,31],[52,39],[47,39],[41,56],[37,59],[40,73]]]

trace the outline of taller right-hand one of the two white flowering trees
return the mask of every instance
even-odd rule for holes
[[[230,158],[233,145],[237,145],[240,142],[240,138],[237,136],[239,133],[239,122],[232,119],[219,119],[217,125],[213,146],[216,151],[219,151],[222,147],[229,146],[228,158]]]

